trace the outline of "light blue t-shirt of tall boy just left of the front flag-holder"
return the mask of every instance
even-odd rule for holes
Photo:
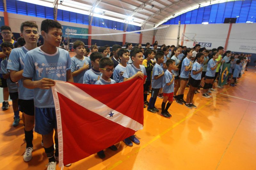
[[[25,56],[29,50],[27,48],[20,47],[12,49],[9,56],[7,70],[20,71],[24,69]],[[34,89],[28,89],[23,86],[23,78],[19,81],[18,92],[19,99],[22,100],[32,100],[34,99]]]

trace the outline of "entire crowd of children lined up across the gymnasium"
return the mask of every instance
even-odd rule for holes
[[[23,39],[17,48],[13,46],[15,42],[11,41],[11,34],[10,27],[1,27],[4,38],[0,48],[0,57],[3,60],[0,83],[4,89],[2,110],[8,109],[10,95],[14,111],[13,126],[19,125],[19,111],[23,113],[26,141],[24,161],[32,159],[35,125],[35,131],[42,135],[42,146],[49,159],[48,169],[55,169],[59,159],[56,114],[50,90],[55,85],[54,80],[106,85],[133,78],[144,79],[146,75],[143,86],[144,108],[147,105],[147,111],[151,113],[161,109],[161,115],[170,118],[172,115],[168,109],[174,99],[176,103],[192,109],[196,108],[193,97],[199,93],[199,89],[202,97],[212,97],[211,93],[215,91],[214,81],[218,80],[224,62],[230,63],[228,82],[235,86],[237,79],[247,70],[249,61],[247,55],[232,54],[231,51],[226,51],[223,55],[223,47],[206,50],[199,44],[194,48],[162,45],[158,50],[157,41],[153,44],[153,49],[150,48],[150,43],[145,48],[141,44],[133,47],[132,43],[127,43],[126,48],[115,44],[112,52],[108,45],[100,48],[92,45],[90,51],[85,48],[84,42],[75,41],[73,48],[76,55],[70,58],[66,49],[59,48],[62,42],[61,25],[50,19],[42,21],[41,35],[44,44],[40,47],[36,44],[39,38],[38,26],[33,22],[26,21],[21,24],[20,36]],[[51,74],[52,68],[57,74]],[[184,91],[188,86],[185,100]],[[148,101],[149,92],[151,97]],[[163,99],[161,108],[155,106],[157,98]],[[140,144],[140,141],[133,135],[124,139],[124,143],[132,146],[133,143]],[[115,145],[109,148],[117,150]],[[102,159],[105,157],[104,151],[98,152],[98,155]]]

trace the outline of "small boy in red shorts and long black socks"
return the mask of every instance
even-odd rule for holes
[[[166,66],[167,66],[167,70],[164,72],[164,78],[163,78],[164,98],[163,98],[163,102],[162,102],[161,115],[166,118],[170,118],[170,117],[172,117],[172,115],[168,112],[168,109],[173,102],[174,74],[172,73],[172,70],[175,69],[175,67],[176,67],[175,61],[172,59],[168,59],[166,61]],[[168,103],[166,105],[167,100],[168,100]],[[165,105],[166,105],[166,107],[165,107]]]

